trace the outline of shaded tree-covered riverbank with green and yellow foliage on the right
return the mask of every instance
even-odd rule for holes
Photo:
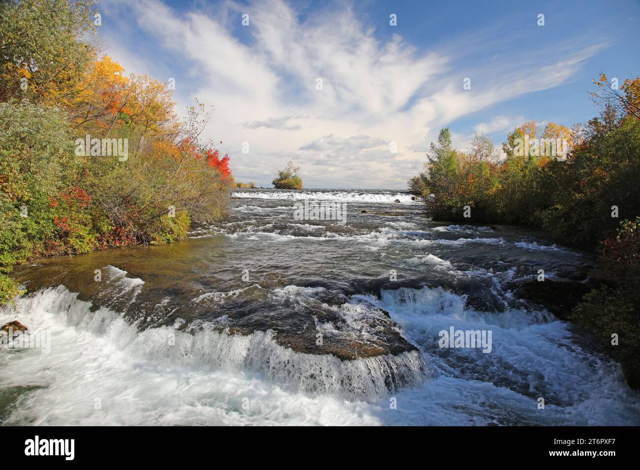
[[[596,86],[593,98],[604,106],[586,125],[569,129],[527,121],[508,134],[502,152],[484,135],[476,135],[468,150],[458,150],[445,127],[431,145],[425,171],[409,185],[425,196],[426,214],[434,220],[525,224],[598,253],[603,269],[599,279],[589,279],[589,291],[579,288],[568,303],[561,295],[557,299],[572,307],[568,318],[622,364],[628,383],[637,389],[640,78],[625,80],[620,93],[607,91],[604,74]],[[560,153],[556,144],[548,145],[559,141]],[[529,148],[529,142],[535,145]],[[540,299],[548,295],[548,287],[531,285],[527,295]]]

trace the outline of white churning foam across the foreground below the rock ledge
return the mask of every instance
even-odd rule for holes
[[[276,294],[309,296],[321,289],[291,285]],[[90,308],[60,286],[0,311],[0,321],[17,314],[32,329],[52,332],[50,354],[0,351],[0,389],[37,387],[22,395],[4,424],[640,423],[637,393],[616,376],[611,361],[575,345],[568,325],[545,312],[477,312],[464,296],[442,288],[383,290],[380,299],[355,295],[340,306],[355,328],[374,309],[386,309],[426,351],[356,361],[296,353],[269,332],[230,336],[207,325],[193,333],[138,331],[109,309]],[[175,327],[182,324],[178,319]],[[454,352],[467,365],[451,368],[431,344],[448,325],[492,329],[493,352]],[[316,324],[327,333],[332,327]],[[425,360],[433,375],[425,375]],[[389,390],[389,373],[411,380]],[[537,409],[539,390],[545,410]]]

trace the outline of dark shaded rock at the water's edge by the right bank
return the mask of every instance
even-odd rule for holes
[[[516,290],[521,299],[534,302],[561,319],[566,319],[582,296],[591,292],[593,286],[575,281],[527,281]]]

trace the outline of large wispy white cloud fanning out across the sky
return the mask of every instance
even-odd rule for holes
[[[220,150],[232,157],[238,180],[263,184],[294,158],[305,182],[315,185],[404,187],[422,168],[424,149],[440,127],[557,86],[604,47],[524,51],[509,62],[492,62],[492,70],[469,65],[463,75],[453,67],[455,48],[420,50],[399,35],[382,41],[349,9],[301,22],[282,0],[248,7],[228,2],[215,14],[180,14],[159,0],[138,0],[126,8],[134,9],[137,27],[159,47],[179,54],[176,67],[193,77],[177,82],[181,109],[193,97],[214,104],[212,140],[224,142]],[[232,33],[245,12],[250,26],[243,35],[250,40],[241,41]],[[113,39],[113,51],[123,49]],[[547,65],[538,64],[531,73],[531,61],[540,56]],[[472,78],[472,90],[463,90],[464,76]],[[318,78],[322,90],[316,89]],[[476,131],[511,125],[511,118],[497,116],[478,123]],[[243,142],[250,153],[241,153]],[[399,153],[389,152],[390,142]]]

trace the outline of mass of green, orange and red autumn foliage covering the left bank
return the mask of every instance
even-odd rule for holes
[[[180,125],[165,84],[95,60],[94,4],[0,2],[0,303],[17,293],[16,263],[172,242],[220,217],[234,185],[228,155],[198,141],[204,105]],[[127,158],[95,139],[121,139]]]

